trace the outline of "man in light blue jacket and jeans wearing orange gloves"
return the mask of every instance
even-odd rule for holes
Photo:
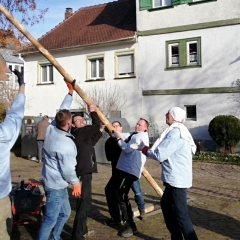
[[[71,214],[68,184],[73,185],[72,195],[79,197],[81,186],[75,172],[77,149],[69,133],[72,116],[68,110],[72,102],[73,86],[67,83],[69,94],[65,97],[55,120],[47,127],[43,151],[43,186],[46,195],[44,221],[38,240],[59,240],[65,222]]]

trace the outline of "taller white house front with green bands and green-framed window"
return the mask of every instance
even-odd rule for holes
[[[238,0],[137,1],[142,114],[160,130],[173,106],[187,111],[185,125],[199,140],[211,140],[215,116],[237,116],[239,11]]]

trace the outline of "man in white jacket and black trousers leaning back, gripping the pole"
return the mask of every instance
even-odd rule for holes
[[[137,150],[133,150],[131,144],[139,144],[141,141],[149,145],[147,133],[148,121],[140,118],[133,133],[114,133],[118,145],[122,149],[116,166],[116,174],[113,176],[116,189],[112,191],[113,196],[109,199],[116,199],[116,194],[125,223],[125,230],[122,237],[130,237],[137,232],[136,224],[133,220],[132,207],[129,202],[128,193],[134,181],[141,177],[142,169],[146,162],[146,156]]]

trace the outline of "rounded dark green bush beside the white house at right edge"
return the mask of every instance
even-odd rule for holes
[[[240,141],[240,121],[231,115],[219,115],[210,122],[208,132],[220,147],[224,147],[226,154],[234,153],[234,146]]]

